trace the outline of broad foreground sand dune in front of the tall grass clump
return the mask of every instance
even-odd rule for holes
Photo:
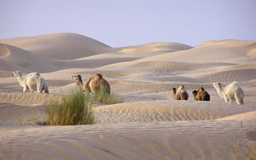
[[[1,129],[2,159],[232,159],[230,148],[244,140],[230,120],[16,128]]]

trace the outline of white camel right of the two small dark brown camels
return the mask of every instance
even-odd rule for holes
[[[224,98],[226,103],[232,103],[236,101],[239,105],[244,105],[244,91],[239,87],[238,82],[232,82],[228,84],[223,90],[220,82],[212,84],[216,88],[220,98]]]

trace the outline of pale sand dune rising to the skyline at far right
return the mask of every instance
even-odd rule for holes
[[[206,43],[205,45],[200,45],[193,49],[182,50],[178,52],[161,54],[150,57],[145,60],[164,60],[164,61],[178,61],[187,63],[242,63],[248,62],[252,59],[248,59],[247,54],[252,49],[252,44],[254,41],[240,41],[234,40],[235,44],[241,42],[241,46],[237,47],[234,45],[229,45],[229,40],[220,40],[211,43]],[[226,45],[224,45],[226,44]],[[249,45],[248,45],[249,44]]]

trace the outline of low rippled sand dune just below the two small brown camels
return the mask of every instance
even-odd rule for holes
[[[230,106],[209,101],[140,101],[95,109],[99,123],[145,123],[150,121],[216,120],[221,117],[254,111],[251,106]],[[246,119],[248,120],[248,119]]]

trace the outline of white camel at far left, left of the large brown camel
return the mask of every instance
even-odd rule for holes
[[[12,72],[12,76],[17,77],[17,81],[23,87],[23,92],[30,90],[31,92],[49,93],[48,85],[45,79],[40,77],[40,73],[28,73],[24,80],[21,71]]]

